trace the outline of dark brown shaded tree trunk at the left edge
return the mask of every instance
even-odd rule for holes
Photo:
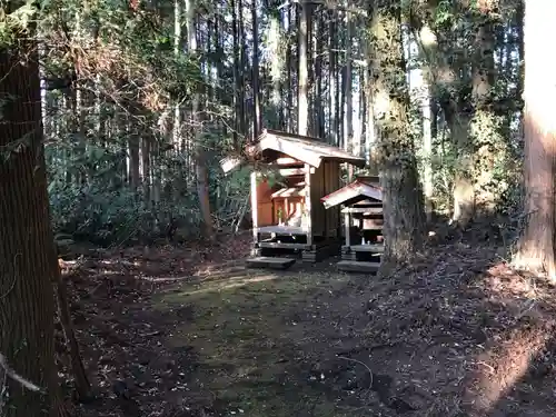
[[[0,46],[0,353],[46,394],[7,378],[8,417],[61,415],[54,363],[50,229],[39,66],[32,33]],[[0,369],[0,384],[3,369]]]

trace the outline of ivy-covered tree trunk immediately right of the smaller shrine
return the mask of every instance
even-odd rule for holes
[[[380,130],[377,161],[384,198],[385,270],[410,259],[420,249],[423,197],[417,178],[414,140],[407,117],[407,91],[399,1],[375,3],[373,42],[377,73],[374,82],[376,121]]]

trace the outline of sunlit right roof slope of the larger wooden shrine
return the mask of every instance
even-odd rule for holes
[[[356,167],[365,167],[365,158],[355,157],[337,147],[324,141],[278,130],[264,130],[256,145],[257,150],[275,150],[296,158],[305,163],[318,168],[324,160],[347,162]]]

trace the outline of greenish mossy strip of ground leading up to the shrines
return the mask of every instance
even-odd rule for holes
[[[308,306],[319,308],[319,297],[346,281],[341,275],[234,271],[165,292],[152,307],[192,309],[193,318],[180,322],[166,344],[195,349],[196,379],[214,393],[220,415],[342,416],[300,371],[298,345],[308,340],[304,319],[315,317]]]

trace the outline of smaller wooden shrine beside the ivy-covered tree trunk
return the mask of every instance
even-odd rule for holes
[[[321,199],[326,209],[342,206],[342,271],[376,272],[384,252],[383,191],[378,177],[358,177],[355,181]]]

